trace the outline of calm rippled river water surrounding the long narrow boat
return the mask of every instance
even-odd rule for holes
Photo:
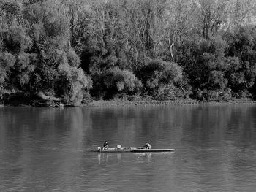
[[[0,108],[0,191],[255,190],[256,105]]]

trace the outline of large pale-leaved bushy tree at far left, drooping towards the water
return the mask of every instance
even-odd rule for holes
[[[45,91],[75,103],[91,80],[69,45],[69,20],[58,1],[4,1],[1,34],[1,82],[20,91]],[[7,62],[7,56],[12,62]],[[63,80],[63,82],[61,82]],[[61,84],[61,86],[60,86]],[[3,83],[1,83],[3,85]]]

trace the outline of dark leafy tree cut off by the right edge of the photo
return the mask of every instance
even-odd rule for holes
[[[256,77],[256,31],[252,27],[240,28],[230,34],[227,77],[233,96],[244,97],[250,91]]]

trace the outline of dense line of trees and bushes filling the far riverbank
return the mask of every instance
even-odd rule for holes
[[[1,0],[0,97],[254,97],[253,0]]]

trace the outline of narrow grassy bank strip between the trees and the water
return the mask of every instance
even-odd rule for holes
[[[76,105],[76,107],[108,107],[108,106],[137,106],[137,105],[217,105],[217,104],[256,104],[252,99],[230,99],[229,101],[197,101],[195,99],[177,99],[169,101],[156,101],[152,99],[135,99],[129,101],[128,99],[113,99],[95,101],[92,99],[86,100],[83,104]],[[15,93],[8,99],[1,101],[0,107],[3,106],[31,106],[31,107],[75,107],[72,104],[65,104],[61,99],[47,96],[24,96],[23,94]]]

